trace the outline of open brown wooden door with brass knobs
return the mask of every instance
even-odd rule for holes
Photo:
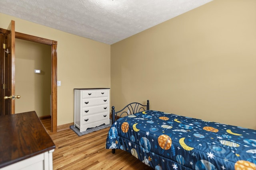
[[[0,115],[15,113],[15,22],[11,21],[6,33],[1,35],[1,109]]]

